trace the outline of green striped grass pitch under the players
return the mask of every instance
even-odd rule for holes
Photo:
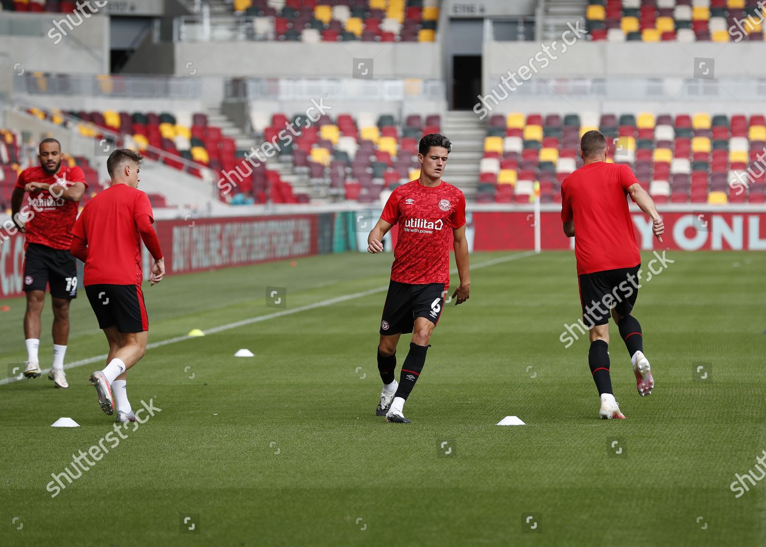
[[[266,318],[150,349],[128,393],[161,412],[54,498],[51,474],[112,431],[87,381],[103,364],[68,369],[67,390],[0,385],[0,545],[764,545],[766,480],[738,499],[729,484],[766,449],[766,253],[667,256],[635,310],[655,392],[638,396],[613,324],[627,419],[611,421],[588,341],[559,341],[580,315],[571,252],[473,254],[470,301],[434,332],[411,425],[374,412],[390,255],[169,276],[145,288],[150,342]],[[286,310],[265,305],[267,285],[287,288]],[[3,304],[11,366],[24,302]],[[67,363],[106,353],[84,291],[71,320]],[[50,326],[47,308],[44,369]],[[497,426],[506,415],[527,425]],[[80,428],[51,428],[62,416]]]

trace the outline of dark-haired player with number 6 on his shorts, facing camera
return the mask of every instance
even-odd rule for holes
[[[420,178],[402,184],[388,197],[381,218],[370,232],[368,252],[383,252],[383,236],[398,224],[398,239],[383,307],[378,344],[378,371],[383,380],[377,415],[387,422],[410,423],[404,402],[421,375],[430,336],[439,322],[450,288],[450,233],[460,286],[455,304],[468,300],[470,278],[466,240],[466,199],[441,180],[452,143],[444,135],[421,138],[417,160]],[[412,333],[410,351],[394,379],[396,346],[401,334]]]

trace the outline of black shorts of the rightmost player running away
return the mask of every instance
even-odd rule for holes
[[[582,274],[580,283],[580,304],[582,321],[586,327],[605,325],[614,308],[620,315],[633,311],[638,298],[638,270],[641,265]]]

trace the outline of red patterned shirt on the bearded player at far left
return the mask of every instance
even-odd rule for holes
[[[41,167],[31,167],[21,171],[16,181],[16,187],[24,189],[30,182],[43,182],[45,184],[54,184],[61,182],[67,187],[71,183],[85,182],[83,170],[75,167],[64,167],[61,165],[58,173],[47,174]],[[61,187],[54,188],[54,194],[58,194]],[[26,223],[26,243],[39,243],[40,245],[51,247],[52,249],[67,249],[72,243],[70,230],[77,220],[77,204],[79,201],[65,200],[63,197],[54,197],[48,190],[33,190],[29,192],[28,207],[21,207],[21,210],[28,210],[30,217]]]

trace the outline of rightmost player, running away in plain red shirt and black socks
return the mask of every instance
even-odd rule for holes
[[[630,198],[652,220],[654,236],[662,243],[663,220],[654,201],[625,164],[607,163],[604,134],[588,131],[578,150],[584,165],[561,183],[561,220],[564,233],[575,237],[583,321],[590,328],[588,363],[601,397],[601,418],[625,418],[614,400],[609,375],[609,316],[620,328],[637,389],[650,395],[654,379],[643,354],[641,325],[631,314],[638,296],[641,256],[627,206]]]

